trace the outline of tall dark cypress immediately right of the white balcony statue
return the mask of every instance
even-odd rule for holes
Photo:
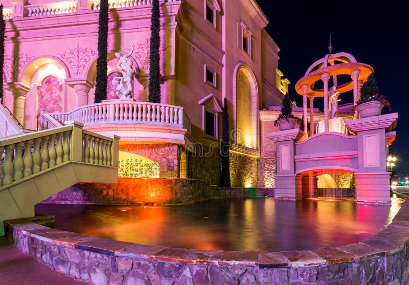
[[[149,96],[148,102],[161,103],[161,70],[160,70],[160,55],[159,47],[161,45],[161,30],[160,22],[161,13],[159,11],[159,0],[152,1],[152,17],[151,17],[151,36],[150,36],[150,51],[149,51]]]

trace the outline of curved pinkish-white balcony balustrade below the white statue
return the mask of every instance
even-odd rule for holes
[[[69,113],[48,115],[60,123],[77,121],[85,126],[100,123],[132,123],[183,127],[183,107],[130,100],[106,100],[102,103],[81,106]]]

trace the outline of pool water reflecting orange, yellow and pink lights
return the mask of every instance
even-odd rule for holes
[[[178,206],[36,205],[55,228],[175,248],[303,250],[359,242],[388,225],[400,208],[354,201],[237,198]]]

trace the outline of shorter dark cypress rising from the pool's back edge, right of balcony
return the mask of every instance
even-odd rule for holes
[[[230,187],[230,152],[229,152],[229,110],[224,98],[221,112],[221,173],[220,186]]]

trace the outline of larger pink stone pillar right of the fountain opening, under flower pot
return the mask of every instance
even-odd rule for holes
[[[387,172],[387,139],[385,131],[396,126],[398,114],[372,116],[346,121],[346,126],[357,133],[358,172],[355,173],[358,203],[390,203],[391,172]]]

